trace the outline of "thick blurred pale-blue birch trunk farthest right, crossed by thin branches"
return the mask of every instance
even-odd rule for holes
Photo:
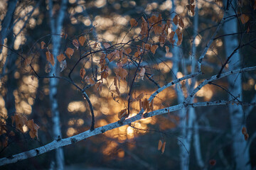
[[[229,7],[228,16],[235,15],[236,1],[233,1],[233,6]],[[227,3],[226,3],[227,4]],[[238,19],[233,17],[224,23],[223,31],[225,34],[238,33]],[[225,55],[226,57],[230,56],[233,50],[238,47],[238,38],[235,35],[225,36]],[[235,55],[231,58],[228,69],[240,69],[241,66],[241,58],[239,52],[236,52]],[[229,91],[233,96],[238,97],[240,101],[242,101],[242,75],[241,74],[233,74],[228,77],[229,82]],[[233,96],[229,96],[229,99],[234,99]],[[242,135],[242,122],[244,118],[244,112],[242,111],[242,106],[230,105],[228,106],[230,112],[230,124],[231,124],[231,132],[233,136],[233,154],[235,158],[236,169],[245,170],[250,169],[250,157],[249,157],[249,147],[246,147],[246,141],[244,136]]]

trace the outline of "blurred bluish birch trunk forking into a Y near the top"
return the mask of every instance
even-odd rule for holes
[[[65,16],[65,9],[67,8],[67,0],[61,1],[61,6],[58,14],[53,17],[53,1],[49,1],[49,13],[50,13],[50,29],[53,41],[53,57],[55,64],[50,70],[49,76],[58,75],[58,60],[60,50],[60,34],[63,29],[63,19]],[[58,111],[58,100],[57,100],[57,89],[58,89],[58,79],[50,79],[50,107],[53,120],[53,139],[57,140],[61,138],[60,130],[60,113]],[[64,154],[63,148],[56,149],[56,164],[57,169],[64,169]]]

